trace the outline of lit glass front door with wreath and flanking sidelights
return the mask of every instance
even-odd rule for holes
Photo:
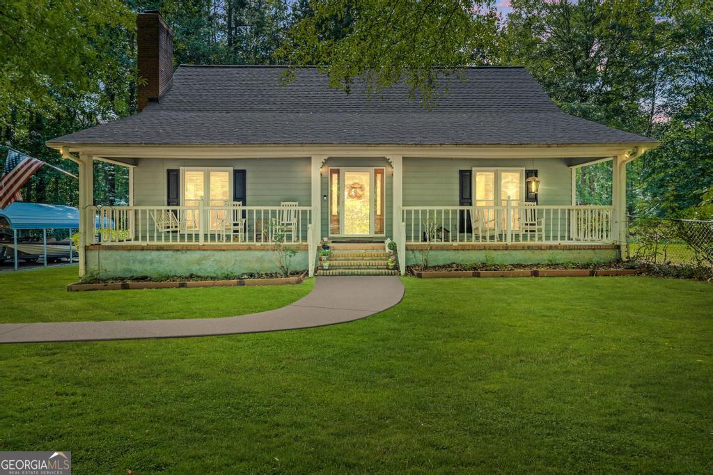
[[[329,169],[329,235],[384,235],[384,168]]]

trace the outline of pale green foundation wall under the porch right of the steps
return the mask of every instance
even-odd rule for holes
[[[524,249],[524,250],[431,250],[429,265],[458,264],[548,264],[563,262],[610,262],[619,259],[614,249]],[[406,251],[406,265],[421,264],[419,250]]]

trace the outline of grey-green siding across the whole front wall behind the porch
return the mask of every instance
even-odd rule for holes
[[[247,205],[276,206],[282,201],[311,203],[310,158],[247,158],[225,160],[141,159],[134,169],[134,204],[166,204],[166,170],[181,167],[247,170]],[[393,173],[386,158],[329,158],[322,167],[320,204],[322,237],[329,233],[329,167],[384,167],[386,236],[393,236]],[[570,205],[571,174],[559,158],[461,159],[404,158],[404,206],[457,206],[459,170],[471,168],[535,168],[540,177],[540,205]],[[400,218],[397,216],[396,218]]]

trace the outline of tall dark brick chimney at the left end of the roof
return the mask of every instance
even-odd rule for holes
[[[138,111],[158,101],[173,84],[173,31],[157,10],[136,16]]]

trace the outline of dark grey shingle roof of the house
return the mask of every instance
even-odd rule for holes
[[[180,66],[173,88],[140,113],[52,143],[545,144],[650,139],[569,116],[524,68],[466,68],[445,79],[436,106],[405,86],[368,98],[327,87],[315,68],[283,85],[275,66]],[[444,93],[443,86],[447,87]]]

